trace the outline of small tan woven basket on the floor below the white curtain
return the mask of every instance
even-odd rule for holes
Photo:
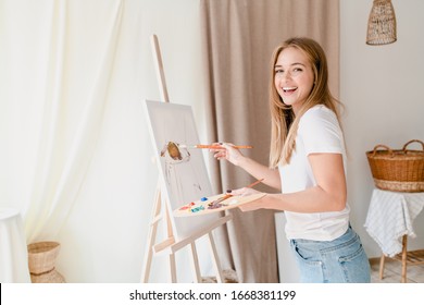
[[[65,279],[55,267],[60,244],[57,242],[38,242],[27,246],[28,268],[33,283],[63,283]]]

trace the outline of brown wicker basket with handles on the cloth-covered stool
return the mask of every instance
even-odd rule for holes
[[[407,149],[414,142],[421,143],[422,150]],[[379,144],[374,150],[366,151],[366,157],[376,187],[392,192],[424,192],[423,142],[411,139],[398,150]]]

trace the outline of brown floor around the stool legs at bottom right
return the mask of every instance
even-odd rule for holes
[[[371,282],[373,283],[400,283],[401,263],[386,258],[384,277],[379,279],[379,257],[371,258]],[[409,266],[407,269],[408,283],[424,283],[424,265]]]

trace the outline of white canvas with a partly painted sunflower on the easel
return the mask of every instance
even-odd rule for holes
[[[155,158],[162,180],[162,196],[170,211],[202,197],[212,195],[204,157],[201,149],[190,149],[199,144],[199,136],[190,106],[146,100]],[[189,236],[197,229],[214,222],[220,215],[208,215],[171,220],[177,237]]]

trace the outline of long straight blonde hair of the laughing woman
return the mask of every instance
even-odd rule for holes
[[[291,106],[283,102],[274,85],[275,64],[279,53],[286,48],[295,48],[302,51],[314,74],[314,85],[299,112],[295,117]],[[289,38],[278,46],[271,60],[271,82],[270,82],[270,109],[271,109],[271,149],[270,167],[288,164],[291,154],[296,149],[296,135],[299,120],[309,109],[316,105],[324,105],[333,110],[340,123],[338,106],[341,103],[335,99],[328,88],[327,59],[322,47],[313,39],[305,37]]]

